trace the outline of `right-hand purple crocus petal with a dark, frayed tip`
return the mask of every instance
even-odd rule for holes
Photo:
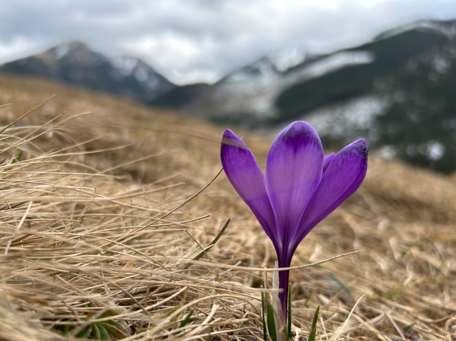
[[[299,241],[358,189],[366,175],[367,154],[367,143],[361,139],[343,148],[330,161],[301,220]]]

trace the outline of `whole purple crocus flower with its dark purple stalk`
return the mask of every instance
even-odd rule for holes
[[[279,267],[289,267],[304,237],[358,189],[367,170],[366,141],[361,139],[323,156],[313,127],[294,122],[274,140],[266,173],[231,130],[223,134],[223,169],[274,244]],[[288,311],[289,271],[279,272],[284,317]]]

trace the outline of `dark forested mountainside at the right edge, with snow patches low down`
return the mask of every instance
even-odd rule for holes
[[[287,89],[277,101],[281,113],[295,117],[311,103],[299,117],[326,144],[364,136],[387,158],[455,171],[456,21],[420,20],[356,49],[373,52],[375,61]]]

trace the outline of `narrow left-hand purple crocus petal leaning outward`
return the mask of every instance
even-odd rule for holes
[[[220,158],[234,189],[255,214],[268,237],[275,242],[275,218],[266,192],[264,174],[250,149],[229,129],[223,134]]]

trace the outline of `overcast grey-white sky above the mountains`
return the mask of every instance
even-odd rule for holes
[[[456,19],[454,0],[6,0],[0,63],[79,40],[176,84],[215,82],[261,56],[299,60],[423,18]]]

